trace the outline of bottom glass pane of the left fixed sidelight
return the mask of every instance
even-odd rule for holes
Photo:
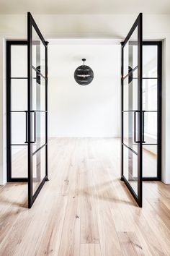
[[[12,178],[27,178],[27,146],[12,146]]]

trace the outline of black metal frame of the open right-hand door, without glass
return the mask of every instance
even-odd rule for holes
[[[123,84],[124,79],[123,77],[123,63],[124,63],[124,56],[123,56],[123,49],[128,43],[128,40],[130,39],[131,35],[133,34],[133,31],[138,28],[138,195],[136,195],[133,188],[130,186],[128,180],[125,178],[123,173],[123,147],[127,147],[127,145],[124,144],[123,141]],[[140,13],[135,20],[133,27],[130,29],[130,32],[128,33],[125,40],[121,43],[122,45],[122,51],[121,51],[121,180],[125,182],[126,186],[130,190],[130,193],[133,195],[135,201],[138,203],[140,207],[142,207],[142,141],[143,141],[143,112],[142,112],[142,74],[143,74],[143,15]],[[128,73],[130,75],[135,69],[133,69],[131,72]],[[131,150],[131,149],[130,149]],[[132,150],[133,151],[133,150]]]

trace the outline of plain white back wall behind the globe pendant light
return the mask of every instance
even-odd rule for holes
[[[73,73],[86,58],[90,85]],[[49,136],[120,137],[120,46],[49,46]]]

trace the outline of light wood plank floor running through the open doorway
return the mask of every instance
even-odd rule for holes
[[[31,209],[27,184],[0,188],[0,255],[170,255],[170,186],[144,182],[138,208],[120,182],[120,140],[52,139],[49,150]]]

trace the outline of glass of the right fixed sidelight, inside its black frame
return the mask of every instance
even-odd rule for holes
[[[143,176],[157,176],[158,145],[158,46],[143,46]],[[145,77],[148,79],[145,79]],[[150,145],[145,145],[150,144]]]

